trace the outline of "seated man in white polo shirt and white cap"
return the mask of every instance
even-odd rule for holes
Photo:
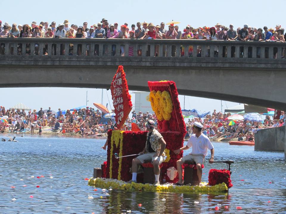
[[[202,178],[202,164],[205,159],[205,156],[208,154],[208,149],[211,150],[211,158],[209,159],[209,163],[214,162],[214,146],[212,145],[211,141],[209,141],[209,138],[202,134],[202,128],[203,125],[200,122],[194,122],[194,125],[192,127],[194,134],[191,135],[191,137],[189,138],[187,145],[180,149],[174,150],[175,154],[179,154],[181,150],[188,150],[190,147],[192,147],[192,152],[189,155],[186,155],[177,161],[179,180],[176,185],[183,185],[184,181],[182,178],[182,164],[185,163],[185,161],[196,162],[199,182]]]

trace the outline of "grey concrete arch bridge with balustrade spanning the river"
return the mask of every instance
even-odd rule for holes
[[[181,95],[286,109],[286,60],[282,57],[286,43],[0,38],[0,44],[0,87],[108,89],[122,64],[131,90],[148,91],[149,80],[173,80]],[[192,55],[183,55],[182,47],[188,50],[190,45]],[[21,55],[17,47],[22,48]],[[125,56],[120,56],[120,47]],[[139,48],[142,56],[137,56]],[[43,55],[45,50],[47,55]]]

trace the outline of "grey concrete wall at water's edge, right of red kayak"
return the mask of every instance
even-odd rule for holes
[[[254,150],[281,151],[286,155],[286,126],[259,130],[254,137]]]

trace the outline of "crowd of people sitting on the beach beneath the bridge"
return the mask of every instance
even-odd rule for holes
[[[131,112],[131,117],[127,118],[123,130],[132,130],[132,124],[136,124],[140,130],[146,130],[145,123],[152,119],[156,124],[156,115],[154,113],[139,111]],[[200,122],[203,125],[202,133],[211,139],[233,139],[254,140],[253,133],[257,129],[279,127],[285,125],[285,113],[281,112],[280,119],[271,119],[265,116],[263,122],[239,120],[235,124],[230,124],[231,120],[227,119],[231,114],[223,114],[213,111],[212,114],[206,115],[205,118],[195,117],[186,122],[186,136],[188,139],[192,134],[192,125],[194,122]],[[24,109],[8,109],[0,106],[0,130],[4,132],[25,133],[29,131],[34,134],[34,130],[42,133],[42,128],[48,132],[71,133],[82,136],[100,136],[107,133],[109,129],[114,127],[114,118],[112,116],[102,120],[104,114],[98,109],[91,107],[63,111],[59,108],[57,112],[51,108],[43,110],[25,111]],[[112,119],[110,119],[112,118]],[[115,125],[116,126],[116,125]]]

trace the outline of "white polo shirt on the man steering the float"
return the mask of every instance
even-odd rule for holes
[[[191,135],[187,147],[192,147],[190,154],[203,154],[204,156],[208,154],[208,149],[211,150],[214,148],[209,138],[204,134],[201,134],[198,138],[195,134]]]

